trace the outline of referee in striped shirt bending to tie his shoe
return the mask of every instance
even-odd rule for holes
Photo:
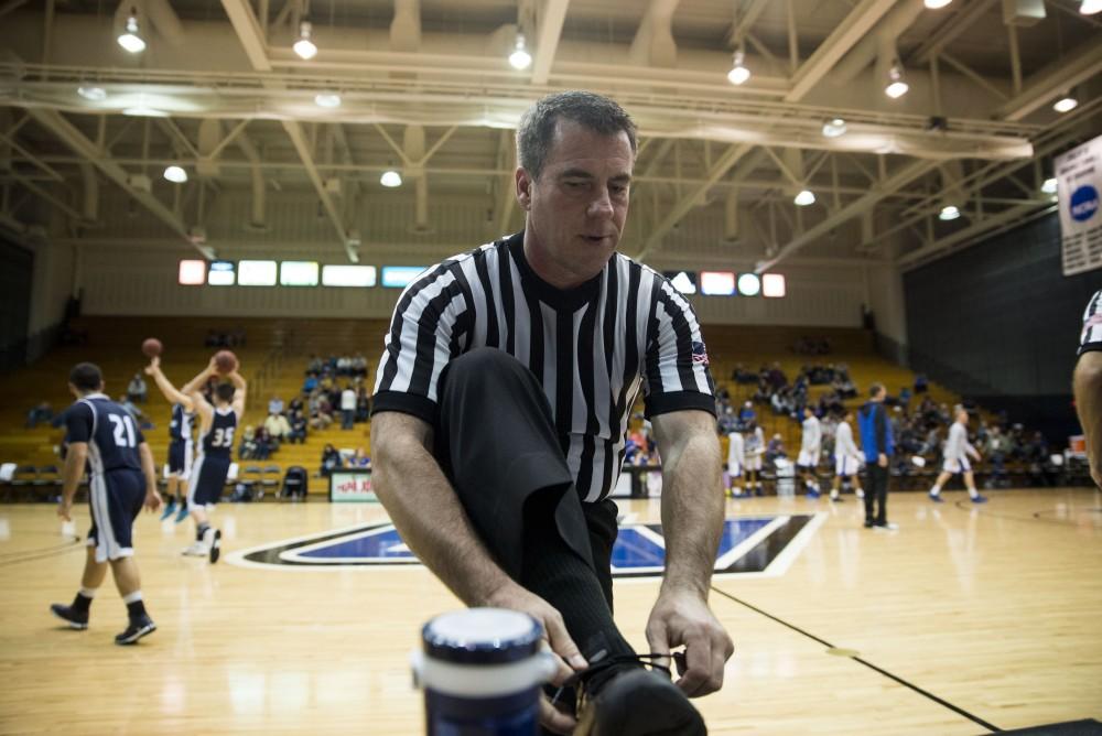
[[[525,230],[428,269],[399,299],[375,387],[375,490],[465,604],[542,623],[569,664],[558,681],[573,675],[584,703],[544,701],[547,729],[704,734],[685,696],[720,689],[734,646],[707,606],[724,502],[700,325],[666,279],[616,252],[636,155],[618,105],[544,97],[517,149]],[[661,662],[685,647],[677,686],[644,669],[612,613],[606,497],[640,389],[667,554],[647,640]]]

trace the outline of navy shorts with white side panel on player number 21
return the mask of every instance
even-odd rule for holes
[[[134,519],[145,500],[145,476],[141,470],[108,470],[88,478],[91,529],[88,546],[96,548],[96,562],[133,556]]]

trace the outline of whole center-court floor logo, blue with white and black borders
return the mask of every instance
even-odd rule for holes
[[[825,515],[752,516],[724,521],[715,559],[720,575],[784,574]],[[393,524],[358,524],[298,537],[227,555],[246,567],[320,571],[382,570],[420,565]],[[660,577],[666,563],[666,538],[657,523],[624,522],[613,546],[612,570],[617,578]]]

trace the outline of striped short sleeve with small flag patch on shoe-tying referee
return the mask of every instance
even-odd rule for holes
[[[646,414],[700,409],[715,415],[715,383],[696,313],[668,280],[653,278],[644,361]]]

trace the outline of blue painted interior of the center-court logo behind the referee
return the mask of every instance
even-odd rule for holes
[[[773,521],[774,517],[728,519],[724,522],[717,558],[723,556],[755,532]],[[335,539],[312,550],[299,552],[302,560],[337,562],[341,560],[393,563],[413,561],[413,554],[402,542],[393,527],[379,527],[357,532],[352,539]],[[659,524],[628,524],[622,527],[613,548],[613,569],[630,571],[661,567],[666,562]]]

